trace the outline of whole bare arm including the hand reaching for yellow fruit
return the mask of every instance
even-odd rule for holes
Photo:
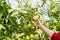
[[[35,21],[36,25],[42,29],[48,36],[52,37],[54,31],[46,28],[39,20]]]

